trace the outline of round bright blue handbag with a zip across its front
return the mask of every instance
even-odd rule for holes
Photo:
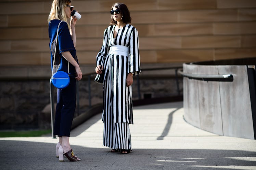
[[[69,74],[64,71],[57,71],[52,76],[52,84],[57,88],[65,88],[69,85]]]

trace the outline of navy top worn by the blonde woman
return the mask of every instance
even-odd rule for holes
[[[54,50],[55,50],[55,42],[56,42],[56,34],[57,28],[61,20],[53,19],[49,22],[49,38],[50,38],[50,50],[51,50],[51,68],[53,64]],[[58,33],[58,44],[56,46],[56,55],[55,55],[55,64],[54,64],[54,72],[56,71],[65,71],[68,72],[68,61],[62,56],[62,52],[69,51],[74,59],[77,61],[76,49],[74,47],[73,40],[71,38],[68,25],[66,22],[62,22],[59,27]],[[69,73],[70,77],[75,77],[76,70],[75,67],[69,63]]]

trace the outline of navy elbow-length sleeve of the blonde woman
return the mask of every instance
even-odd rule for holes
[[[66,22],[62,22],[59,28],[58,35],[60,53],[65,51],[74,51],[75,47],[71,38],[70,32]]]

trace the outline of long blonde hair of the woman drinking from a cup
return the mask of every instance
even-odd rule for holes
[[[48,17],[48,23],[52,19],[60,19],[67,23],[65,8],[71,3],[71,0],[53,0],[52,8]]]

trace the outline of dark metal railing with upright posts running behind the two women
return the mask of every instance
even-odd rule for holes
[[[175,70],[175,79],[176,79],[176,84],[177,84],[177,93],[180,95],[180,89],[179,89],[179,81],[178,81],[178,69],[182,67],[161,67],[161,68],[148,68],[148,69],[141,69],[141,71],[154,71],[154,70]],[[89,108],[91,107],[91,77],[93,75],[96,75],[97,73],[92,72],[92,73],[86,73],[83,74],[82,77],[87,77],[88,78],[88,98],[89,98]],[[137,88],[138,88],[138,96],[139,99],[141,99],[141,94],[140,94],[140,79],[139,75],[136,75],[137,77]],[[56,136],[53,134],[53,127],[54,127],[54,119],[55,119],[55,109],[54,109],[54,95],[53,95],[53,84],[50,79],[50,101],[51,101],[51,127],[52,127],[52,138],[56,138]],[[79,89],[79,82],[77,82],[77,89]],[[77,90],[77,111],[79,112],[79,90]]]

